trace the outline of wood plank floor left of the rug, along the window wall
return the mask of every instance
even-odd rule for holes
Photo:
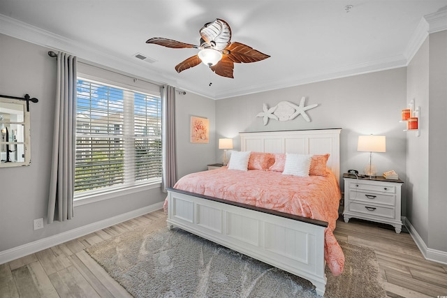
[[[154,211],[0,265],[0,297],[132,297],[84,249],[160,217]]]

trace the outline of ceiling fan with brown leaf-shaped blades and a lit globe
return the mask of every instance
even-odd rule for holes
[[[235,63],[251,63],[270,57],[243,43],[230,43],[230,25],[224,20],[216,19],[214,22],[207,23],[199,32],[201,36],[200,45],[191,45],[162,37],[150,38],[146,43],[154,43],[175,49],[200,49],[198,54],[175,66],[177,73],[203,62],[203,64],[210,66],[211,70],[217,75],[233,78]]]

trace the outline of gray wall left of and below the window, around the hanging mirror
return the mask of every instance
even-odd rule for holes
[[[160,188],[75,207],[72,221],[46,225],[56,60],[45,47],[0,34],[0,91],[31,103],[31,165],[0,168],[0,251],[161,202]],[[214,152],[213,152],[214,154]],[[33,220],[45,218],[34,231]]]

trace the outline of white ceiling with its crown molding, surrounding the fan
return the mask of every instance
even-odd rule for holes
[[[0,33],[220,99],[406,66],[425,37],[423,17],[446,10],[447,0],[1,0]],[[230,24],[232,41],[271,57],[235,64],[230,79],[203,64],[177,73],[196,49],[145,43],[165,37],[198,45],[199,29],[215,18]]]

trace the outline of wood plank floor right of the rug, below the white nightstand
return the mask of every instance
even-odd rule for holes
[[[373,248],[388,297],[447,295],[447,265],[427,261],[410,234],[396,234],[390,225],[351,218],[337,221],[337,240]]]

